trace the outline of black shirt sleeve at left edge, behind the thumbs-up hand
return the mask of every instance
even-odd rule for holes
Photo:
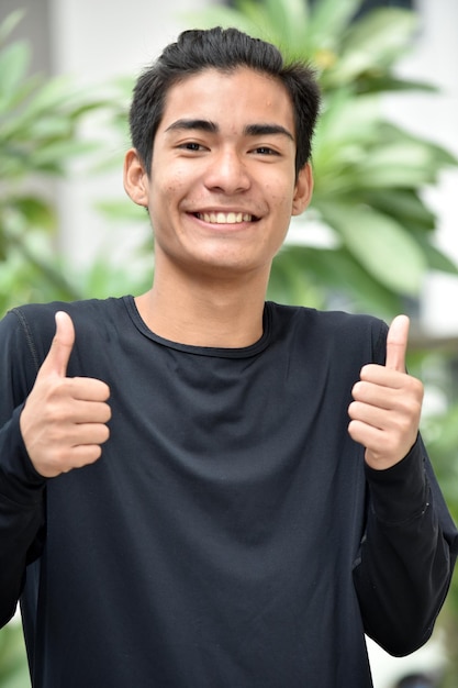
[[[9,313],[0,322],[0,625],[14,614],[44,526],[46,479],[35,471],[19,424],[35,376],[26,333]]]

